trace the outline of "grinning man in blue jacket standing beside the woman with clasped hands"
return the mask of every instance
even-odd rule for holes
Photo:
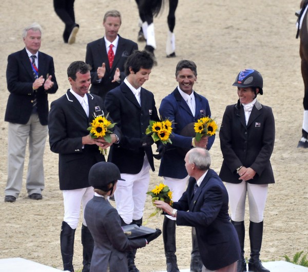
[[[176,80],[179,86],[161,102],[159,108],[162,119],[172,121],[172,144],[167,146],[162,157],[159,176],[164,177],[164,184],[172,191],[172,200],[178,201],[186,190],[188,174],[185,169],[182,151],[189,150],[193,145],[209,150],[213,145],[215,135],[202,137],[200,141],[194,138],[194,122],[201,117],[211,116],[208,100],[193,90],[197,81],[197,66],[194,61],[180,60],[176,67]],[[191,106],[188,104],[191,100]],[[190,109],[191,107],[191,109]],[[190,125],[190,132],[183,135],[186,126]],[[180,152],[179,152],[180,151]],[[167,264],[167,272],[179,271],[176,256],[176,221],[170,216],[164,217],[163,238]],[[192,228],[192,251],[190,270],[200,272],[202,261],[200,258],[195,229]]]

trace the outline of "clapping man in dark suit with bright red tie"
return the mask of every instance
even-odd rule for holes
[[[103,99],[108,91],[118,87],[124,80],[125,61],[134,50],[138,50],[134,41],[118,35],[121,23],[119,11],[107,11],[103,19],[105,36],[87,45],[86,63],[92,67],[90,92]],[[108,59],[110,46],[114,55],[111,66]]]

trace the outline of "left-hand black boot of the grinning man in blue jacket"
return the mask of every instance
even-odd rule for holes
[[[167,264],[167,272],[180,272],[176,256],[176,220],[164,216],[163,240]]]

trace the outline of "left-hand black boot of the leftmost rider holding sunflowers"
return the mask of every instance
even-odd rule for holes
[[[76,229],[72,229],[68,223],[62,222],[60,234],[60,247],[65,271],[74,272],[73,254],[74,254],[74,238]]]

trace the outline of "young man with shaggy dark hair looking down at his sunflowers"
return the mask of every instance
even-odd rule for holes
[[[118,181],[118,189],[114,192],[122,225],[142,224],[149,170],[155,170],[151,149],[153,140],[145,131],[149,121],[159,121],[159,117],[153,94],[142,88],[149,79],[153,63],[148,52],[134,51],[125,64],[124,82],[109,91],[105,98],[105,108],[123,135],[119,147],[110,148],[108,158],[118,166],[125,179],[124,182]],[[162,144],[159,150],[164,151]],[[136,250],[127,255],[129,272],[139,271],[134,265],[135,255]]]

